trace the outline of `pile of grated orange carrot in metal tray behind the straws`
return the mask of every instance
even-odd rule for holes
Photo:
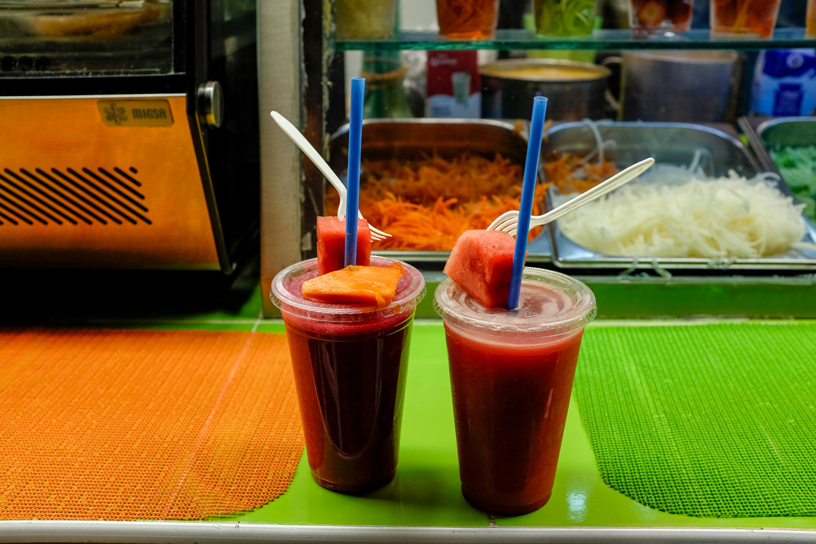
[[[554,174],[548,181],[559,186],[570,180],[563,168]],[[373,248],[448,251],[462,232],[487,228],[505,211],[519,209],[522,175],[522,166],[499,153],[492,160],[470,153],[450,160],[435,155],[410,162],[364,160],[360,210],[370,224],[392,234]],[[534,215],[543,213],[544,194],[551,184],[536,186]],[[325,203],[326,210],[337,209],[333,188],[328,188]],[[539,232],[540,227],[531,229],[530,240]]]

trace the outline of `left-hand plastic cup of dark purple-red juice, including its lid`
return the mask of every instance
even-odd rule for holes
[[[371,266],[394,262],[371,257]],[[397,469],[411,324],[425,295],[422,274],[401,264],[406,272],[397,294],[379,309],[304,299],[301,285],[317,276],[317,259],[293,264],[272,281],[269,296],[286,325],[308,464],[326,489],[366,493]]]

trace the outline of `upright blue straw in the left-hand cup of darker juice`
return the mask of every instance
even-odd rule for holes
[[[357,264],[357,208],[360,207],[360,148],[365,77],[352,77],[351,115],[348,120],[348,181],[346,182],[346,253],[344,266]]]

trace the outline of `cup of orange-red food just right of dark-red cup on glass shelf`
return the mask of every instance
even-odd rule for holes
[[[770,38],[782,0],[711,0],[712,36]]]

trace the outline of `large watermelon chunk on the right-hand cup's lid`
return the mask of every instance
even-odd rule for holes
[[[482,306],[507,307],[515,239],[501,231],[465,231],[450,251],[445,273]]]

